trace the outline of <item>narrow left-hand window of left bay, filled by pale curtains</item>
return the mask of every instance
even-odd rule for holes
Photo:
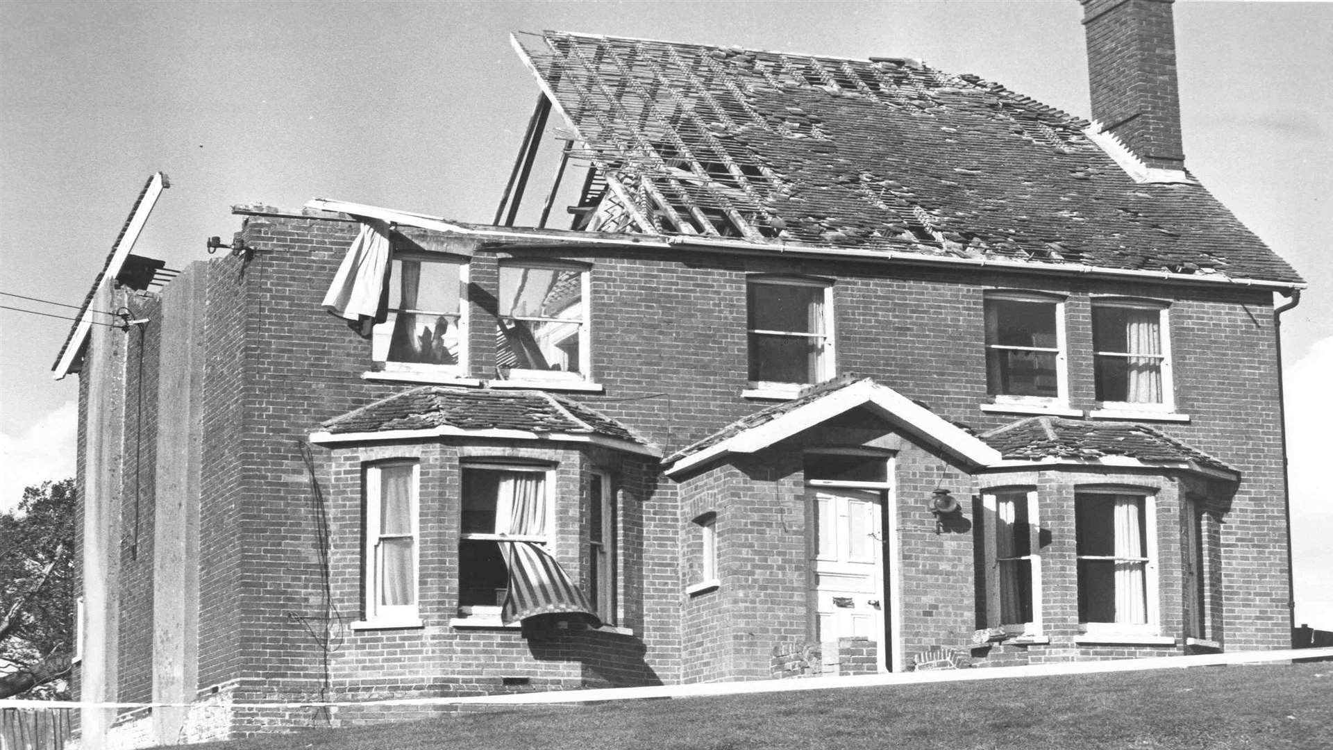
[[[417,613],[417,462],[365,466],[365,613],[409,625]]]

